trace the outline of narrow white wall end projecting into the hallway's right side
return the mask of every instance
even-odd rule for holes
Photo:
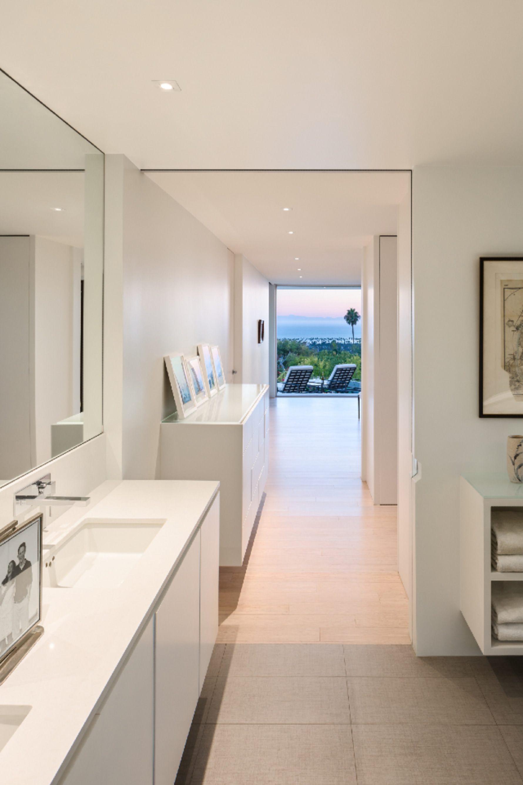
[[[396,237],[365,247],[361,275],[362,478],[375,504],[396,504],[398,484]]]

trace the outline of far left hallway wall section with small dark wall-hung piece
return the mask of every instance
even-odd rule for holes
[[[265,339],[258,343],[258,319]],[[234,256],[234,382],[269,383],[269,282],[245,259]]]

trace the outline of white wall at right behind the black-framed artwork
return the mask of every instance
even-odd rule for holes
[[[505,471],[521,420],[478,417],[479,257],[523,252],[523,169],[412,174],[416,647],[477,653],[459,612],[459,475]],[[514,430],[516,429],[516,430]]]

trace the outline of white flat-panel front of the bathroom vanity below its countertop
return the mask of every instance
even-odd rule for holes
[[[219,538],[218,493],[59,785],[173,785],[218,632]]]

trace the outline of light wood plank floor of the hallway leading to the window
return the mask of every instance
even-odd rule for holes
[[[396,508],[361,482],[357,400],[278,398],[270,445],[245,563],[220,570],[218,642],[409,643]]]

